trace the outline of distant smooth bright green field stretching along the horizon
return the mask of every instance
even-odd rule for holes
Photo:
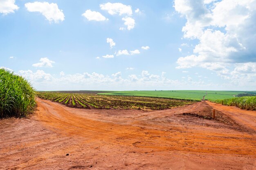
[[[206,95],[207,92],[207,95]],[[124,96],[144,96],[144,97],[168,97],[175,99],[230,99],[239,93],[255,93],[255,91],[116,91],[111,93],[99,93],[101,95],[124,95]]]

